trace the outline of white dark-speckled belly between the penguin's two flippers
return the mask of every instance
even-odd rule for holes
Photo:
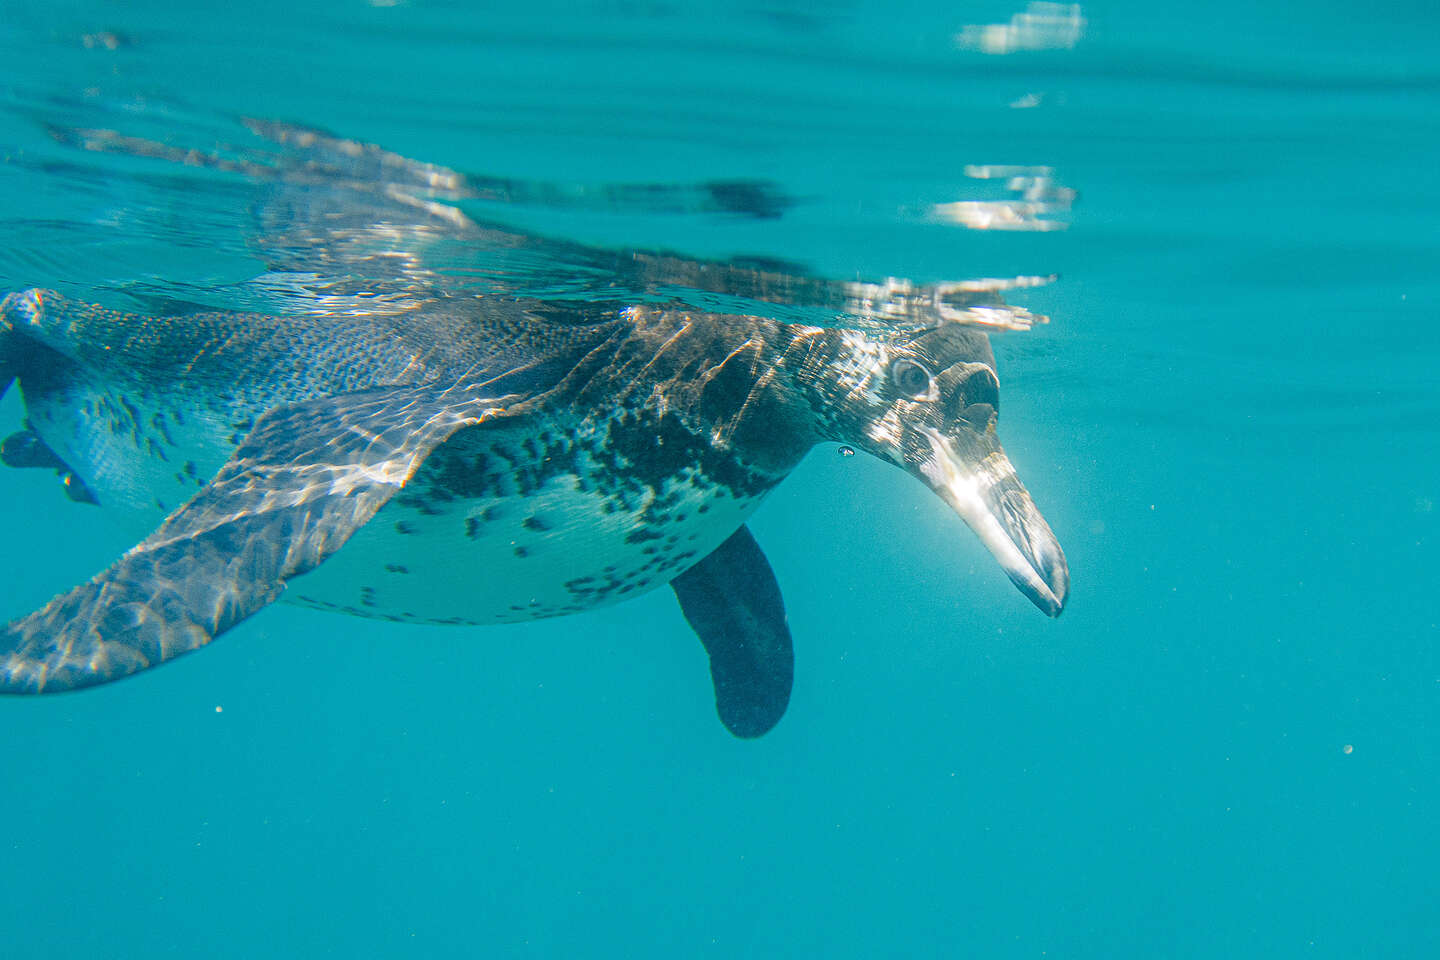
[[[527,494],[416,505],[392,499],[285,599],[360,616],[504,623],[615,603],[662,586],[759,505],[697,471],[621,502],[580,458]],[[583,489],[589,488],[589,489]]]

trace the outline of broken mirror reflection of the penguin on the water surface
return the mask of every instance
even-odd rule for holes
[[[576,308],[589,299],[603,308],[626,296],[647,296],[716,312],[753,312],[757,301],[808,311],[805,322],[890,331],[943,322],[1028,330],[1047,321],[1005,304],[999,292],[1051,278],[838,281],[768,258],[706,261],[660,250],[592,248],[482,222],[469,213],[481,213],[485,200],[514,201],[514,181],[505,181],[505,196],[491,197],[490,187],[501,183],[492,177],[464,176],[374,144],[291,124],[246,119],[245,127],[269,145],[215,144],[204,150],[108,128],[50,127],[49,132],[85,151],[236,173],[264,184],[259,201],[251,207],[255,229],[248,239],[266,271],[240,284],[251,295],[262,296],[264,309],[399,315],[451,296],[490,294],[563,295]],[[965,171],[973,178],[1008,177],[1009,189],[1022,199],[937,204],[929,212],[933,219],[973,229],[1063,227],[1043,217],[1067,207],[1073,191],[1057,187],[1048,168]],[[564,189],[537,183],[526,187],[527,199],[547,196],[566,204]],[[723,194],[729,212],[750,207],[753,216],[770,214],[756,196],[720,181],[698,187],[622,184],[609,189],[609,201],[657,210],[701,193]],[[657,199],[662,201],[658,206]],[[462,210],[459,201],[469,206]],[[632,201],[639,206],[631,207]],[[711,302],[710,295],[721,299]],[[284,302],[274,302],[276,298]]]

